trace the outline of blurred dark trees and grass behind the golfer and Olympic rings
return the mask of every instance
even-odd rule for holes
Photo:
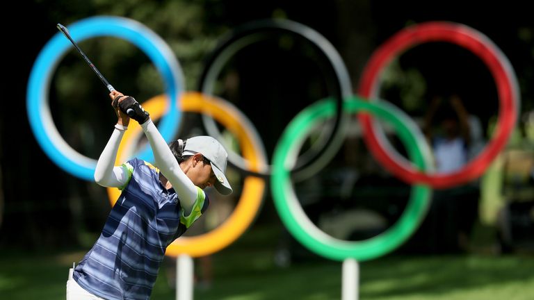
[[[48,158],[26,113],[31,68],[58,33],[56,24],[68,28],[97,15],[127,17],[152,29],[175,53],[188,91],[199,90],[202,70],[218,43],[259,19],[288,19],[321,33],[343,58],[355,90],[373,51],[406,26],[448,21],[480,31],[501,49],[517,75],[521,106],[515,131],[483,176],[435,192],[428,215],[407,242],[361,263],[360,298],[532,299],[534,21],[523,1],[58,0],[6,3],[3,12],[18,21],[5,23],[3,31],[2,299],[64,299],[69,266],[92,247],[111,209],[106,189]],[[79,46],[117,90],[142,103],[164,92],[157,69],[128,41],[91,38]],[[291,119],[335,95],[335,87],[324,57],[309,42],[286,33],[238,51],[218,76],[214,92],[252,121],[270,162]],[[65,141],[90,158],[98,158],[115,124],[107,94],[79,53],[68,51],[51,80],[49,105]],[[382,76],[380,98],[401,108],[428,134],[458,111],[448,103],[460,102],[469,115],[468,160],[491,140],[499,112],[496,85],[482,61],[438,42],[396,58]],[[443,106],[432,115],[437,103]],[[184,113],[177,137],[202,133],[200,115]],[[393,134],[388,137],[405,153]],[[221,199],[213,194],[209,212],[188,235],[209,231],[232,213],[244,176],[232,167],[228,172],[236,192]],[[306,177],[296,183],[302,207],[318,228],[342,240],[384,232],[403,213],[411,188],[373,158],[357,121],[350,123],[332,161]],[[174,289],[175,260],[165,258],[152,298],[174,299]],[[267,189],[261,210],[241,238],[223,251],[195,258],[195,298],[340,299],[341,263],[294,240]]]

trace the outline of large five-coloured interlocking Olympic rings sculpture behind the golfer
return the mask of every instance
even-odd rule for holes
[[[87,24],[93,25],[89,26],[91,29],[88,29]],[[199,88],[201,92],[185,93],[180,90],[183,87],[181,83],[183,76],[175,57],[170,55],[170,50],[161,38],[157,38],[155,33],[137,22],[118,17],[95,17],[72,24],[70,28],[73,37],[77,40],[99,35],[114,35],[133,42],[149,55],[165,78],[168,104],[165,105],[165,97],[160,95],[145,101],[143,106],[150,111],[154,119],[162,118],[160,131],[162,134],[165,133],[163,135],[165,140],[174,138],[177,124],[179,124],[177,119],[180,110],[202,114],[204,125],[207,131],[211,131],[209,134],[213,136],[219,135],[218,131],[213,129],[213,119],[215,119],[238,138],[242,156],[227,147],[230,154],[229,162],[248,175],[234,213],[226,222],[209,233],[191,238],[182,237],[173,242],[166,253],[170,256],[184,253],[193,257],[204,256],[234,242],[257,215],[265,192],[266,176],[270,176],[270,190],[275,201],[275,208],[285,226],[305,247],[332,260],[377,258],[402,244],[419,226],[428,208],[431,188],[448,188],[480,176],[491,160],[503,149],[517,122],[519,92],[517,78],[508,58],[485,35],[462,24],[449,22],[417,24],[399,31],[382,44],[371,57],[359,85],[359,94],[366,101],[348,92],[352,90],[350,81],[348,81],[348,72],[330,42],[312,28],[295,22],[261,21],[236,28],[213,51],[209,64],[202,73]],[[264,146],[252,122],[229,102],[210,95],[213,90],[213,81],[216,80],[218,72],[229,56],[234,55],[238,49],[261,40],[263,35],[259,33],[264,31],[293,33],[314,44],[317,49],[325,53],[334,73],[338,76],[337,82],[339,83],[333,98],[313,103],[289,123],[275,147],[272,165],[267,163]],[[53,126],[49,108],[46,105],[51,74],[60,56],[67,49],[67,42],[62,42],[58,37],[59,34],[44,47],[32,69],[27,96],[29,121],[40,146],[54,163],[74,176],[92,180],[95,164],[70,148],[60,137]],[[380,90],[380,72],[394,56],[400,55],[416,44],[435,41],[458,44],[480,57],[494,76],[499,93],[499,124],[494,140],[488,144],[487,149],[478,158],[455,174],[435,173],[430,164],[430,148],[416,124],[391,103],[378,101],[376,97]],[[339,150],[344,137],[343,124],[350,114],[359,116],[366,133],[364,135],[366,144],[375,158],[398,178],[414,185],[407,207],[396,224],[380,235],[357,242],[334,239],[312,224],[298,202],[289,176],[293,172],[302,170],[317,171],[318,168],[323,167],[325,162],[327,163],[333,153]],[[383,133],[375,128],[371,115],[385,119],[394,126],[408,150],[412,163],[400,158],[398,153],[391,153],[387,150],[391,147],[387,144]],[[307,158],[298,158],[302,141],[309,135],[312,127],[332,117],[336,120],[334,128],[337,131],[332,133],[330,143],[324,143],[331,146],[327,149],[316,150],[312,156],[307,156]],[[139,135],[141,131],[136,126],[124,135],[117,163],[134,155],[136,147],[133,141]],[[150,150],[147,149],[147,151]],[[324,158],[323,153],[325,153]],[[318,160],[321,162],[310,163],[309,158],[316,158],[319,154],[321,157]],[[113,205],[115,199],[118,198],[118,191],[110,189],[108,195]]]

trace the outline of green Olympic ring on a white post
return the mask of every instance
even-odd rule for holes
[[[338,240],[317,228],[307,217],[296,197],[290,171],[296,161],[298,148],[314,125],[332,117],[336,105],[332,99],[318,101],[302,110],[286,127],[273,154],[273,174],[270,188],[275,207],[289,232],[307,249],[332,260],[355,258],[370,260],[396,249],[414,233],[426,215],[430,192],[428,185],[413,185],[410,199],[398,221],[384,233],[362,241]],[[382,102],[367,102],[353,96],[344,101],[344,113],[372,113],[394,126],[416,167],[421,171],[430,167],[428,144],[415,135],[416,124],[395,106]]]

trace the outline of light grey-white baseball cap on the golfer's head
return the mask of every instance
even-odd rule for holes
[[[195,153],[201,153],[211,163],[211,169],[213,169],[213,173],[217,178],[215,183],[216,190],[223,195],[231,194],[232,187],[225,176],[228,153],[223,145],[208,135],[188,138],[182,156],[195,155]]]

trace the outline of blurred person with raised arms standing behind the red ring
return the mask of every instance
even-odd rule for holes
[[[478,117],[469,115],[458,94],[434,97],[423,124],[432,145],[438,174],[457,172],[484,146]],[[471,229],[478,219],[478,181],[435,190],[426,219],[412,238],[427,253],[468,251]]]

